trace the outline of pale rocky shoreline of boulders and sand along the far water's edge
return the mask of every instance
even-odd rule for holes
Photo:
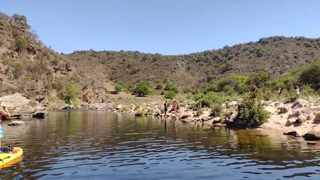
[[[242,99],[227,101],[222,104],[222,116],[210,116],[211,108],[194,107],[193,101],[181,101],[178,103],[176,113],[169,111],[165,118],[172,120],[180,120],[192,124],[207,124],[232,126],[233,119],[237,114],[237,106]],[[320,139],[320,99],[296,99],[293,102],[283,99],[272,102],[270,100],[259,102],[262,107],[270,113],[269,119],[262,124],[258,130],[268,130],[280,132],[287,135],[302,136],[303,134],[312,133],[316,138]],[[172,106],[169,106],[171,109]],[[92,103],[75,105],[42,105],[30,102],[23,107],[15,107],[9,109],[11,118],[38,117],[42,118],[47,115],[48,110],[70,110],[70,109],[88,109],[96,111],[110,111],[134,114],[136,116],[154,116],[155,118],[164,117],[163,105],[160,101],[150,101],[141,104],[117,104],[112,103]]]

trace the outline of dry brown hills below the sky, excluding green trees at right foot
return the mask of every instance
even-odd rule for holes
[[[141,81],[152,88],[174,83],[189,92],[230,73],[277,77],[319,57],[320,38],[283,36],[182,55],[92,49],[59,54],[38,39],[25,16],[0,13],[0,93],[18,91],[43,103],[69,101],[70,90],[80,100],[106,101],[111,83],[127,89]]]

